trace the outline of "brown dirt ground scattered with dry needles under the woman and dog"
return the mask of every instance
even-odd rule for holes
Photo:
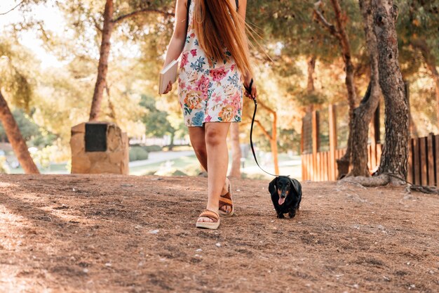
[[[303,183],[276,219],[267,181],[194,228],[205,178],[1,175],[0,292],[439,292],[439,197]]]

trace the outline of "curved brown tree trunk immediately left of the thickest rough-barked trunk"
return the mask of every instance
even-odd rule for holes
[[[379,88],[377,37],[374,34],[372,0],[360,0],[365,24],[366,44],[370,55],[370,83],[358,108],[354,110],[351,129],[351,171],[349,176],[370,176],[367,168],[367,138],[369,124],[381,96]]]

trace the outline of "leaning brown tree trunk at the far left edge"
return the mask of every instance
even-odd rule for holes
[[[8,136],[8,141],[11,143],[12,148],[17,156],[18,162],[25,170],[26,174],[39,174],[38,168],[34,163],[34,160],[27,150],[25,139],[22,137],[20,129],[18,129],[17,122],[8,107],[8,103],[0,91],[0,121]]]

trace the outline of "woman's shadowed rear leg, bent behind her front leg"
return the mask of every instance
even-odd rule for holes
[[[192,148],[194,148],[194,152],[198,159],[198,162],[200,162],[201,166],[203,166],[205,171],[208,171],[208,152],[206,150],[206,144],[205,144],[205,126],[189,127],[188,129],[189,129],[189,138],[191,140],[191,145]],[[228,191],[229,191],[229,180],[224,180],[221,194],[224,195]],[[231,211],[231,207],[224,205],[221,207],[221,210],[229,213]]]

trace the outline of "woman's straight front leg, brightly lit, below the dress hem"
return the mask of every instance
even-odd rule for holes
[[[208,206],[207,209],[217,212],[219,195],[227,176],[229,164],[229,151],[227,150],[227,132],[230,123],[207,122],[205,123],[205,145],[208,153]],[[211,222],[209,218],[202,217],[198,221]]]

